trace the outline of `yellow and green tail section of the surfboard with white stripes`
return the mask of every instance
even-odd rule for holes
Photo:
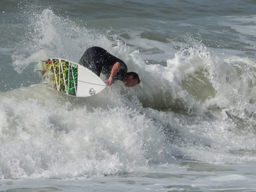
[[[41,72],[44,80],[53,82],[54,89],[76,96],[77,64],[62,59],[48,59],[42,63]]]

